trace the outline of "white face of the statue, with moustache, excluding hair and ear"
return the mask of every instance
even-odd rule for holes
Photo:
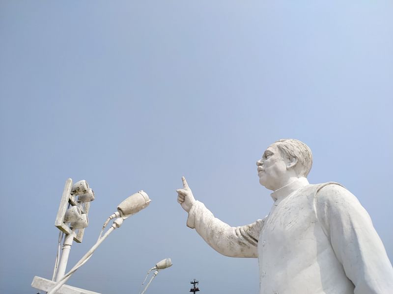
[[[287,162],[281,157],[280,150],[273,144],[265,150],[262,158],[256,162],[259,183],[269,190],[277,190],[287,176]]]

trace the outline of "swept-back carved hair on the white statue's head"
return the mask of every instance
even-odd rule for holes
[[[296,139],[281,139],[274,145],[280,150],[281,156],[297,158],[294,169],[300,176],[307,177],[312,166],[312,153],[306,144]]]

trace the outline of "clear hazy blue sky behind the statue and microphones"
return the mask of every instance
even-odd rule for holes
[[[337,181],[393,259],[393,2],[0,1],[0,292],[51,278],[64,182],[96,194],[82,244],[124,198],[152,202],[68,284],[136,294],[257,293],[256,259],[186,227],[175,189],[231,225],[268,214],[255,161],[281,138],[311,147],[311,183]]]

